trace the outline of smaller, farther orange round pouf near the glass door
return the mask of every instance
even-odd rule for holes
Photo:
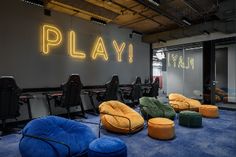
[[[201,105],[199,107],[199,113],[204,117],[217,118],[219,117],[218,107],[214,105]]]

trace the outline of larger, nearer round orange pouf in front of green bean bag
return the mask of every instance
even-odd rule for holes
[[[152,118],[148,121],[148,135],[152,138],[169,140],[175,136],[175,124],[167,118]]]

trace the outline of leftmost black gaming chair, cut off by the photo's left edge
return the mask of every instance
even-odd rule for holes
[[[6,119],[16,119],[19,113],[20,88],[17,86],[12,76],[0,78],[0,120],[2,120],[2,130],[6,129]]]

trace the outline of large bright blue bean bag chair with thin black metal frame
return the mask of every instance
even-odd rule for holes
[[[66,157],[87,154],[89,144],[96,139],[92,130],[79,122],[56,116],[46,116],[29,122],[22,131],[19,149],[22,157]],[[40,137],[40,139],[30,136]],[[42,139],[53,141],[44,141]]]

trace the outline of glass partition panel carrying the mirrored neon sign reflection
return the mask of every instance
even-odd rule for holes
[[[202,99],[202,52],[200,43],[154,50],[154,58],[157,58],[158,53],[165,54],[161,60],[154,60],[154,63],[162,63],[162,67],[153,66],[154,77],[159,75],[163,80],[163,93],[180,93],[187,97]],[[155,72],[157,70],[161,72]]]

